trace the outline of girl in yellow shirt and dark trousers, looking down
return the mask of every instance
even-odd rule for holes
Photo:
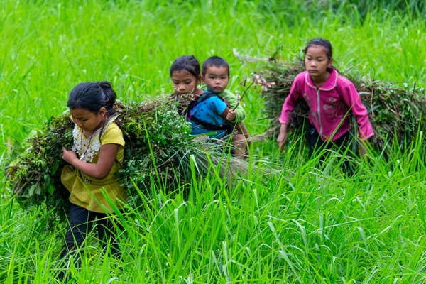
[[[109,239],[111,253],[119,254],[114,227],[106,214],[112,212],[111,205],[104,197],[109,195],[118,206],[126,200],[124,188],[114,177],[124,160],[124,137],[115,122],[115,101],[116,93],[108,82],[78,84],[70,92],[67,105],[75,123],[74,145],[71,150],[62,148],[62,158],[70,165],[62,169],[61,180],[70,191],[71,206],[61,258],[80,248],[95,219],[103,245]],[[75,265],[80,266],[78,257]],[[64,275],[61,272],[59,278]]]

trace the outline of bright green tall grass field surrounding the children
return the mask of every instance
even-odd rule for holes
[[[0,0],[0,162],[67,109],[79,82],[107,80],[122,102],[143,101],[172,91],[168,70],[183,54],[226,58],[229,88],[241,91],[265,64],[243,64],[233,48],[292,60],[320,36],[339,70],[425,86],[424,4],[346,2]],[[251,133],[262,133],[259,92],[244,101]],[[351,178],[336,158],[313,168],[302,147],[280,155],[273,141],[257,143],[252,165],[276,170],[232,186],[209,177],[170,192],[153,182],[141,208],[119,215],[121,258],[89,238],[81,270],[70,268],[75,283],[425,283],[424,133],[387,161],[354,161]],[[20,209],[4,182],[0,194],[0,283],[55,283],[65,228]]]

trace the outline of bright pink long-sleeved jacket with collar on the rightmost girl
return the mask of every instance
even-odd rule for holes
[[[334,141],[349,131],[350,124],[347,116],[349,110],[358,121],[359,137],[362,140],[370,138],[374,135],[373,127],[371,127],[367,109],[361,103],[354,84],[345,77],[339,76],[334,68],[328,71],[330,77],[319,89],[315,87],[307,71],[295,77],[290,94],[285,98],[283,104],[280,123],[288,124],[290,122],[290,113],[294,109],[294,103],[303,97],[310,107],[310,123],[315,126],[323,141],[329,140],[330,137]],[[342,124],[340,124],[341,121]]]

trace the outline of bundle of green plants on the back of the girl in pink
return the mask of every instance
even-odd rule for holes
[[[263,111],[270,121],[271,129],[274,129],[271,132],[275,137],[279,132],[278,118],[284,100],[290,93],[290,87],[296,75],[304,70],[301,60],[294,62],[274,60],[262,72],[268,82],[275,82],[275,85],[262,92]],[[415,141],[418,131],[426,130],[426,123],[423,122],[426,118],[424,88],[417,89],[416,92],[415,86],[409,90],[406,84],[401,87],[391,82],[368,80],[365,77],[359,78],[350,74],[341,75],[354,83],[362,103],[368,110],[368,118],[376,133],[370,139],[370,143],[377,151],[381,151],[385,143],[393,141],[398,141],[398,145],[407,146]],[[308,114],[309,107],[305,100],[300,99],[295,104],[289,124],[293,137],[305,136],[304,126],[306,126]],[[351,117],[351,125],[353,129],[358,127],[353,117]]]

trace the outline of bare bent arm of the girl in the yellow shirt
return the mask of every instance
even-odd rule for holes
[[[105,144],[101,146],[99,159],[94,164],[79,160],[73,151],[62,147],[62,158],[71,165],[74,165],[75,168],[81,170],[84,175],[89,175],[89,177],[96,178],[97,180],[103,180],[109,175],[118,152],[119,144]]]

